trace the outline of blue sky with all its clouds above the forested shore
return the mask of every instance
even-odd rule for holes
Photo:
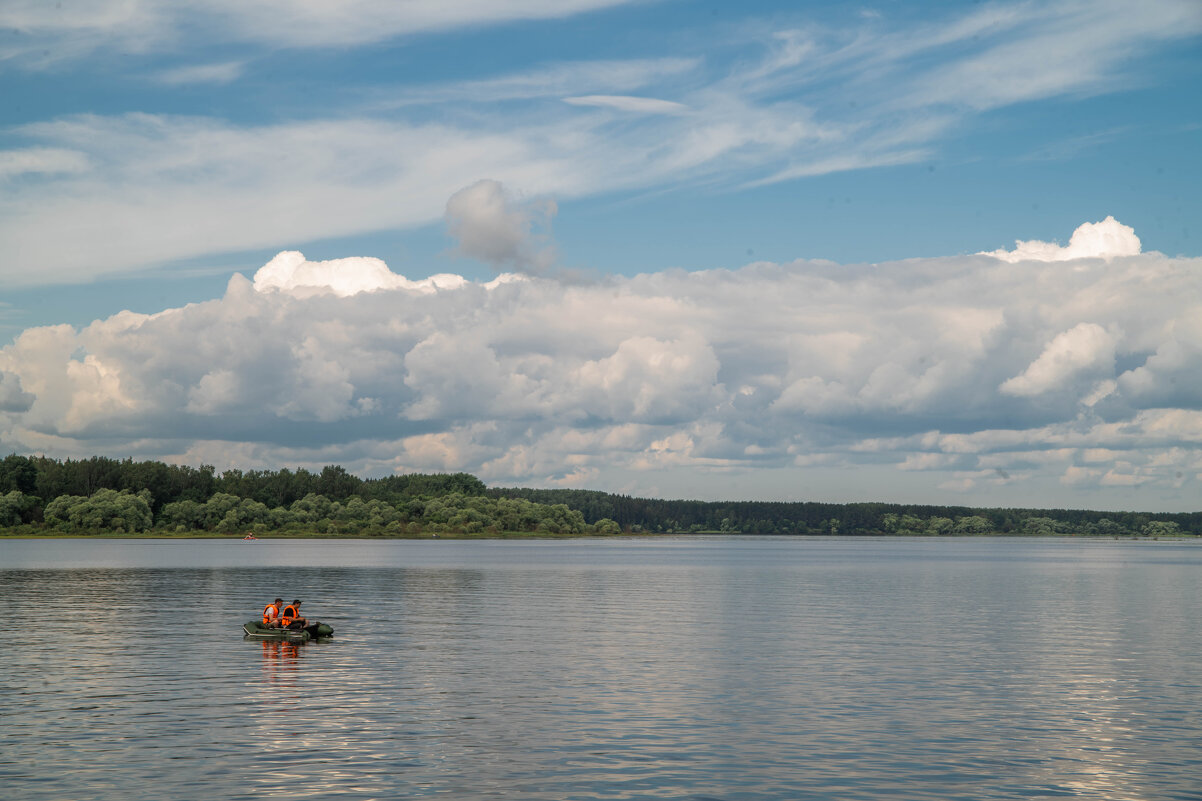
[[[8,0],[0,451],[1202,509],[1196,0]]]

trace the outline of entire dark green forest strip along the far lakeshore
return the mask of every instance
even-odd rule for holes
[[[1159,538],[1202,534],[1202,512],[661,500],[589,489],[487,487],[466,473],[361,479],[327,465],[321,473],[298,468],[219,474],[207,464],[12,453],[0,459],[0,529],[8,534]]]

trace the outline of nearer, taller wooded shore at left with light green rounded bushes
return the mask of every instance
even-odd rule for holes
[[[563,504],[495,498],[466,473],[361,479],[321,473],[226,470],[95,456],[0,461],[0,527],[66,533],[316,533],[423,535],[617,534]]]

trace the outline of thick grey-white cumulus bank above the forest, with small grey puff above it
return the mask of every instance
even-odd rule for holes
[[[528,251],[499,189],[448,220]],[[0,443],[639,494],[684,494],[686,473],[702,497],[875,470],[893,497],[833,499],[1033,505],[1051,486],[1192,509],[1200,298],[1202,260],[1142,253],[1113,218],[1065,247],[593,283],[287,251],[219,298],[25,331],[0,349]]]

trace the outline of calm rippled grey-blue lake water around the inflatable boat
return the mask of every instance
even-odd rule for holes
[[[1202,799],[1202,544],[0,540],[0,797]],[[329,642],[244,641],[302,598]]]

